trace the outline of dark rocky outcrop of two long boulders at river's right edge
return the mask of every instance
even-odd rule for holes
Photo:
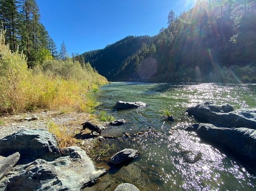
[[[199,137],[228,149],[244,160],[256,160],[256,109],[237,109],[231,105],[204,102],[187,109],[199,124],[189,125]]]

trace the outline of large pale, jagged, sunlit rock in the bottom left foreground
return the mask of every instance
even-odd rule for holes
[[[17,165],[10,176],[0,181],[0,190],[81,190],[93,184],[105,173],[96,170],[92,160],[79,147],[69,147],[63,156],[47,162],[37,159],[34,162]],[[69,155],[68,155],[69,153]]]

